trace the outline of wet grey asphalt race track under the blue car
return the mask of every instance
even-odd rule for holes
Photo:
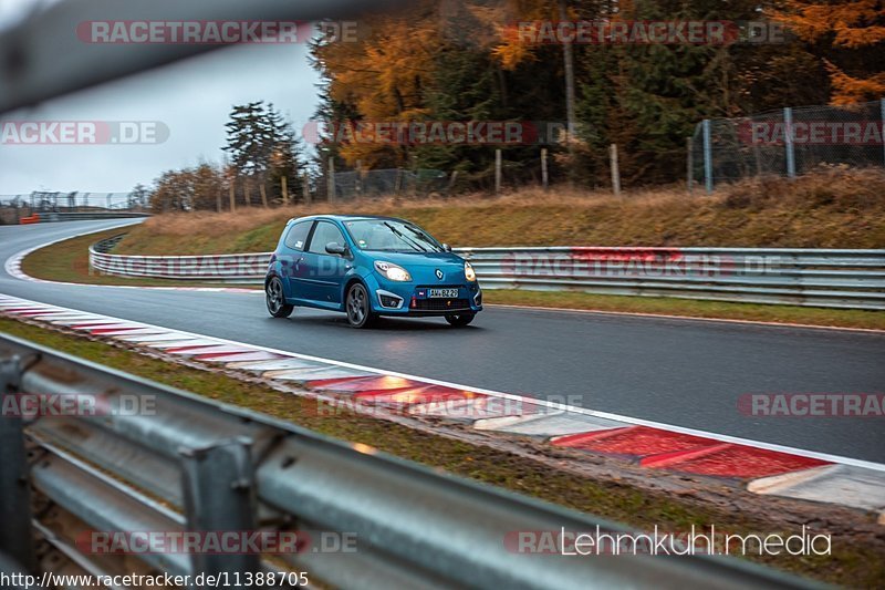
[[[131,221],[0,226],[0,260],[55,239]],[[748,393],[882,393],[885,334],[761,324],[487,308],[467,329],[343,314],[268,317],[258,294],[24,281],[0,292],[475,387],[820,453],[885,463],[885,418],[751,417]]]

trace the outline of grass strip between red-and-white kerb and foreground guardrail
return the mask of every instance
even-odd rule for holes
[[[716,524],[717,529],[730,534],[772,531],[769,519],[721,503],[698,504],[691,501],[690,495],[652,493],[615,479],[582,477],[507,451],[472,445],[356,414],[323,415],[316,412],[316,402],[309,398],[239,381],[218,372],[171,364],[87,338],[7,318],[0,318],[0,332],[198,395],[262,412],[329,436],[367,444],[462,477],[633,527],[650,529],[657,525],[662,530],[687,530],[691,525],[708,527]],[[756,500],[764,503],[771,498],[756,497]],[[771,514],[775,515],[777,509],[772,509]],[[882,546],[882,539],[870,544],[851,535],[836,535],[830,556],[768,556],[749,559],[829,582],[872,588],[879,587],[885,580],[885,551]]]

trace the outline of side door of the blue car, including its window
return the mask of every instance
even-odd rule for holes
[[[325,251],[330,242],[346,245],[341,229],[332,221],[320,220],[311,232],[308,249],[304,252],[306,276],[303,284],[308,298],[315,304],[329,309],[341,307],[341,289],[344,284],[350,261],[339,255]]]

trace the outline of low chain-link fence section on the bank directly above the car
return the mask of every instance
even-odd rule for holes
[[[442,170],[402,168],[337,172],[334,175],[336,200],[373,198],[393,195],[427,197],[448,190],[449,175]],[[329,185],[325,186],[330,192]]]

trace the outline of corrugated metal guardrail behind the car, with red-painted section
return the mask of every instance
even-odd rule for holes
[[[261,282],[270,252],[119,256],[90,249],[123,277]],[[885,310],[885,250],[788,248],[459,248],[485,289],[585,291]]]

